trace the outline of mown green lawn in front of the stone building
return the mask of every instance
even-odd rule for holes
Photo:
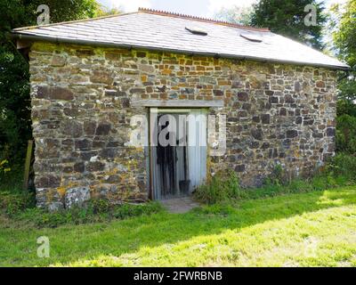
[[[356,266],[356,187],[55,229],[3,217],[0,265]]]

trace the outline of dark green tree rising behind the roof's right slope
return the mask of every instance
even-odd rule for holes
[[[304,7],[312,4],[317,8],[317,25],[306,26]],[[270,28],[272,32],[294,38],[315,48],[322,48],[322,28],[327,21],[324,5],[315,0],[260,0],[254,5],[252,26]]]

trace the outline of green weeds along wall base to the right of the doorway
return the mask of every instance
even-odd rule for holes
[[[260,188],[242,189],[234,172],[219,173],[194,193],[195,199],[206,204],[234,203],[241,199],[275,197],[289,193],[324,191],[337,186],[356,183],[356,157],[339,153],[330,159],[320,172],[308,179],[286,179],[280,165],[274,167]]]

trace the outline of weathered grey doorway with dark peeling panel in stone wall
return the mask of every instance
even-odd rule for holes
[[[153,199],[189,196],[206,179],[206,110],[150,110]]]

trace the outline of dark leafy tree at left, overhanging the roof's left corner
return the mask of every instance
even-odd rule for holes
[[[50,7],[51,22],[93,17],[95,0],[0,0],[0,161],[20,164],[32,137],[27,59],[9,40],[12,28],[36,25],[39,4]]]

